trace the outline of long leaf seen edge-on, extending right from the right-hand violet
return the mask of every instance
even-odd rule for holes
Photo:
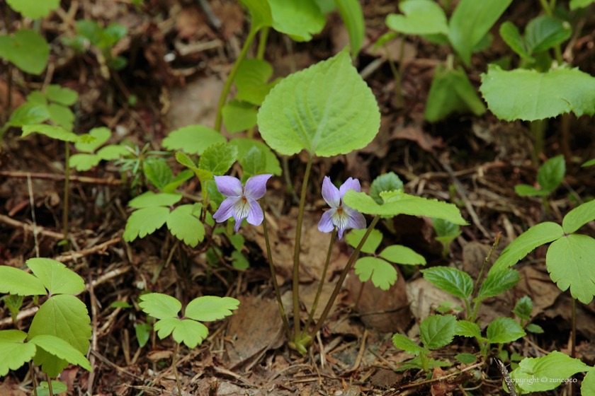
[[[445,219],[451,223],[467,225],[467,222],[460,216],[457,206],[446,202],[439,202],[436,199],[414,197],[397,191],[392,193],[382,192],[381,197],[388,197],[388,201],[379,205],[365,192],[346,192],[343,202],[349,207],[365,214],[381,214],[386,216],[397,216],[398,214],[409,214],[410,216],[427,216],[438,219]]]

